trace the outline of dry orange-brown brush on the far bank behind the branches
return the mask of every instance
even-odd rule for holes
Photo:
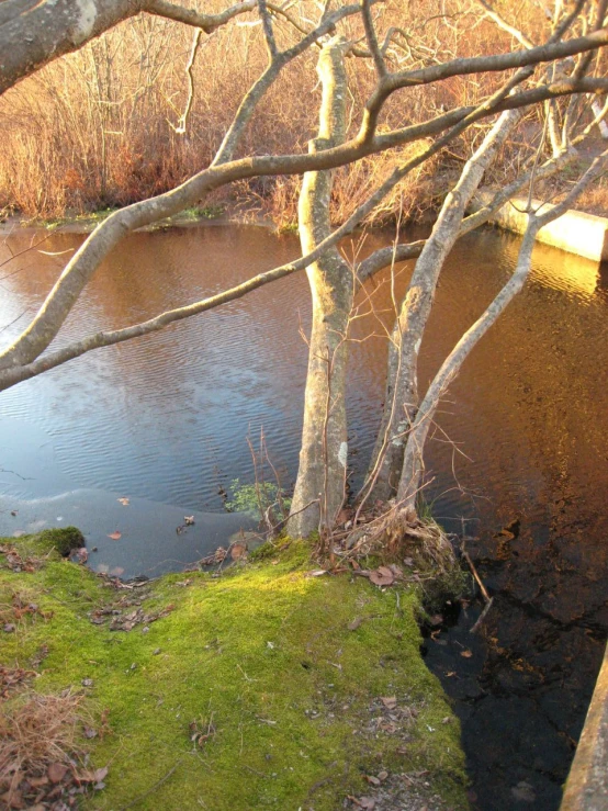
[[[306,3],[297,13],[306,18]],[[478,7],[471,10],[461,0],[442,3],[439,12],[436,3],[396,0],[374,13],[383,27],[399,25],[407,32],[407,40],[395,40],[395,65],[414,68],[514,45],[510,36],[482,19]],[[0,209],[55,217],[122,206],[167,191],[207,166],[244,93],[266,66],[260,26],[249,24],[255,20],[248,15],[247,24],[203,35],[193,61],[194,94],[185,122],[193,32],[147,15],[121,24],[7,92],[0,102]],[[353,36],[358,24],[348,23]],[[281,18],[277,31],[282,43],[297,35]],[[306,149],[317,116],[315,59],[314,52],[304,55],[279,78],[263,114],[249,125],[243,155]],[[374,75],[369,59],[351,58],[349,68],[356,109]],[[473,102],[493,81],[487,76],[475,82],[461,77],[410,88],[386,105],[385,124],[423,121],[439,108]],[[358,125],[351,121],[351,131]],[[471,131],[466,143],[457,143],[449,154],[408,176],[372,219],[384,219],[396,209],[415,216],[434,207],[447,188],[446,180],[437,178],[438,165],[450,176],[450,166],[460,165],[471,140],[481,135],[482,129]],[[334,219],[344,221],[398,158],[380,155],[341,169]],[[289,226],[295,222],[299,187],[299,178],[259,179],[207,199],[206,204],[226,203],[229,194]]]

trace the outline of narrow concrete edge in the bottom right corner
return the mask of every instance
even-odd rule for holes
[[[560,811],[606,811],[606,809],[608,809],[608,649],[604,655]]]

